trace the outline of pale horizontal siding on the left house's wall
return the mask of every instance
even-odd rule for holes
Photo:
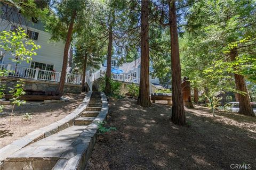
[[[5,20],[0,19],[1,23],[4,22],[8,22]],[[9,27],[4,28],[1,27],[0,30],[6,30],[9,31],[11,27],[11,24],[9,24]],[[26,29],[27,31],[27,27],[22,26],[23,28]],[[33,60],[35,62],[40,62],[40,63],[45,63],[45,64],[52,64],[54,65],[54,70],[57,72],[61,71],[62,68],[62,62],[63,62],[63,52],[64,52],[64,47],[65,44],[63,43],[63,41],[59,41],[57,43],[52,43],[49,42],[49,39],[51,38],[50,33],[42,31],[42,30],[38,30],[35,28],[30,28],[28,27],[29,30],[31,31],[36,31],[39,32],[39,36],[38,36],[38,40],[34,40],[35,43],[37,45],[40,45],[41,48],[35,50],[35,52],[37,53],[37,55],[32,56]],[[6,53],[4,58],[3,58],[3,62],[2,64],[14,64],[12,62],[12,60],[9,60],[9,58],[14,58],[12,56],[11,53]],[[21,63],[18,64],[18,66],[22,66],[22,67],[30,67],[31,63],[27,63],[26,61],[22,61]]]

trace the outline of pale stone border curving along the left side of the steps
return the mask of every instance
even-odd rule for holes
[[[0,168],[3,166],[3,160],[12,155],[14,152],[20,150],[23,147],[28,146],[30,143],[34,143],[43,138],[49,137],[50,135],[62,131],[69,126],[74,125],[75,119],[80,117],[84,109],[89,104],[92,91],[90,91],[84,97],[82,103],[70,114],[61,120],[54,122],[50,125],[45,126],[44,128],[35,130],[21,139],[13,141],[10,145],[7,145],[0,149]],[[103,105],[102,105],[103,106]]]

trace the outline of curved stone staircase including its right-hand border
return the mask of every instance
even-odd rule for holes
[[[98,122],[105,120],[107,112],[106,96],[93,91],[73,125],[15,151],[1,169],[83,169],[96,141]]]

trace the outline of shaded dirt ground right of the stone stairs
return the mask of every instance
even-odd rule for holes
[[[132,98],[109,104],[106,126],[117,131],[99,136],[85,169],[256,169],[256,118],[221,112],[214,118],[196,106],[186,109],[189,126],[178,126],[164,104],[144,108]]]

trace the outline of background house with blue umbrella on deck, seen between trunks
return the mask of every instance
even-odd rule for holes
[[[107,60],[102,64],[101,71],[107,70]],[[149,71],[154,72],[153,67],[149,67]],[[111,60],[111,72],[112,79],[130,83],[140,83],[140,58],[130,63],[123,63],[121,66],[117,66],[116,60]],[[155,92],[156,89],[164,89],[164,87],[159,84],[159,79],[153,75],[149,75],[150,81],[150,92]]]

